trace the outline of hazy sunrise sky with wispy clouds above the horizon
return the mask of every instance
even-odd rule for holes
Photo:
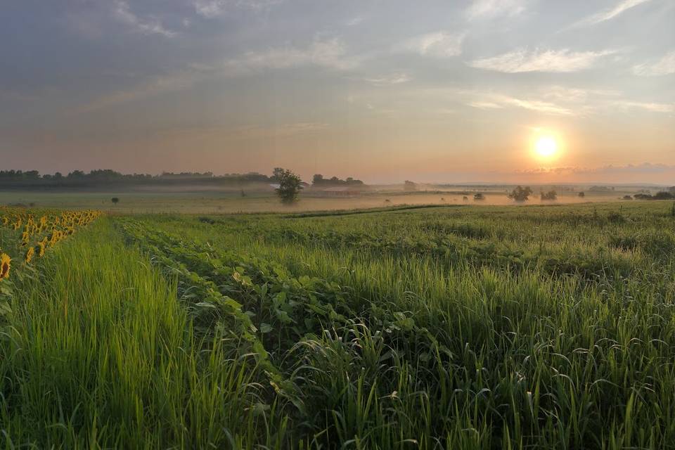
[[[675,0],[0,8],[0,169],[675,185]]]

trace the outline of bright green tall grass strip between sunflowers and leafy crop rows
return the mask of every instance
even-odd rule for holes
[[[245,446],[257,368],[198,342],[162,278],[107,219],[15,288],[1,352],[7,448]]]

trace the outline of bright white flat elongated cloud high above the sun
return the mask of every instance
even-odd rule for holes
[[[492,58],[473,60],[468,65],[477,69],[505,73],[578,72],[593,67],[600,58],[615,53],[619,51],[570,51],[570,49],[527,51],[520,49]]]

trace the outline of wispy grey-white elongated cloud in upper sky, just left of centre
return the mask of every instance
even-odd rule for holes
[[[232,74],[259,69],[285,69],[294,66],[316,65],[335,70],[348,70],[359,64],[359,58],[347,56],[340,39],[314,40],[306,49],[293,46],[276,47],[265,51],[250,51],[240,58],[226,62]]]

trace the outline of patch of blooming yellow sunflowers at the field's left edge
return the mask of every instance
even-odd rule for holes
[[[30,264],[34,257],[44,256],[48,248],[68,238],[78,228],[90,224],[100,215],[100,211],[94,210],[34,214],[26,210],[0,207],[0,225],[15,233],[20,231],[17,252],[23,252],[23,261]],[[10,255],[0,251],[0,280],[9,276],[11,262]]]

